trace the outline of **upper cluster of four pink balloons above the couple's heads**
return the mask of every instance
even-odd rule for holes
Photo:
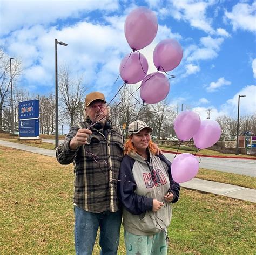
[[[124,24],[125,38],[133,52],[121,61],[120,76],[127,84],[142,81],[140,98],[147,104],[156,104],[167,97],[170,82],[165,74],[176,68],[183,57],[180,44],[174,39],[161,41],[153,52],[154,65],[157,72],[147,74],[146,58],[138,50],[149,45],[156,37],[158,22],[155,13],[145,7],[134,9],[126,17]]]

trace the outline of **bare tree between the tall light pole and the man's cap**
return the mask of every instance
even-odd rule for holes
[[[58,80],[60,112],[65,119],[69,119],[70,126],[72,126],[83,116],[83,99],[86,91],[83,86],[83,78],[72,78],[69,68],[62,66],[59,70]]]

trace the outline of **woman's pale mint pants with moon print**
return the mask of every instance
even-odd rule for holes
[[[137,236],[124,230],[126,255],[167,255],[167,240],[164,232],[150,236]]]

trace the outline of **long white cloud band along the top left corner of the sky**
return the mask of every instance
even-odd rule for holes
[[[119,7],[117,0],[102,1],[1,1],[1,34],[31,27],[47,25],[57,20],[79,18],[93,10],[113,11]],[[42,15],[44,13],[44,15]],[[15,17],[15,18],[13,18]]]

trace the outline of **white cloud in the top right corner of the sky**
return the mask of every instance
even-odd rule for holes
[[[224,18],[230,20],[234,31],[236,31],[237,29],[242,29],[250,32],[255,32],[255,11],[255,1],[252,3],[252,5],[240,2],[233,6],[232,12],[228,12],[226,10]]]

